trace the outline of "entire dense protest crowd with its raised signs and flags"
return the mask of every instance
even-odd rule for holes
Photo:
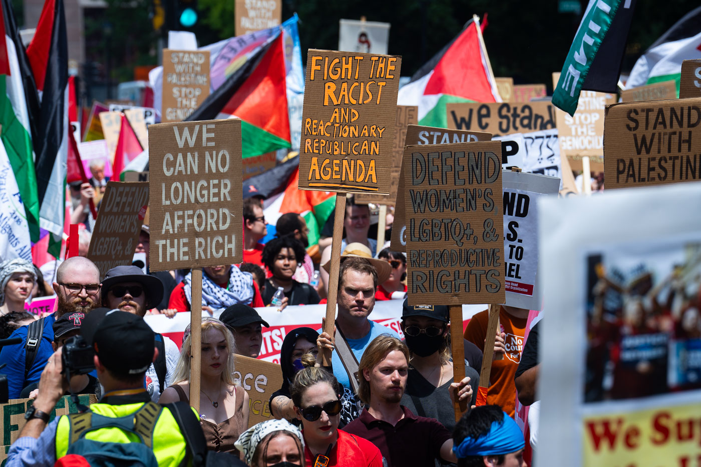
[[[701,228],[665,207],[701,195],[701,7],[620,74],[636,2],[591,0],[547,86],[494,77],[486,15],[400,83],[386,23],[304,62],[297,13],[236,13],[102,103],[64,2],[28,45],[11,3],[3,465],[701,459]]]

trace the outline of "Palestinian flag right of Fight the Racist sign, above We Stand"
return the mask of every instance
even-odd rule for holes
[[[418,124],[447,128],[445,106],[454,102],[501,102],[477,16],[411,76],[397,105],[418,105]]]

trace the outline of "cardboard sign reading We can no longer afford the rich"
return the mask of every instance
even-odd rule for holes
[[[151,125],[149,148],[151,271],[240,263],[241,121]]]

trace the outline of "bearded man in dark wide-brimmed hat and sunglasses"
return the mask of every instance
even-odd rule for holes
[[[144,274],[138,266],[116,266],[102,281],[102,306],[126,311],[142,318],[163,299],[163,282]],[[146,370],[146,390],[151,400],[158,402],[163,390],[173,382],[180,351],[175,342],[156,333],[158,356]]]

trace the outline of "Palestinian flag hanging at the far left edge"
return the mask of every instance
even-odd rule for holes
[[[26,219],[30,238],[36,242],[39,241],[39,197],[36,194],[30,115],[38,111],[38,100],[11,2],[3,0],[1,9],[0,34],[4,41],[0,43],[0,138],[17,180],[16,202],[24,205],[21,215]],[[25,93],[26,79],[29,80],[26,86],[29,102]]]

